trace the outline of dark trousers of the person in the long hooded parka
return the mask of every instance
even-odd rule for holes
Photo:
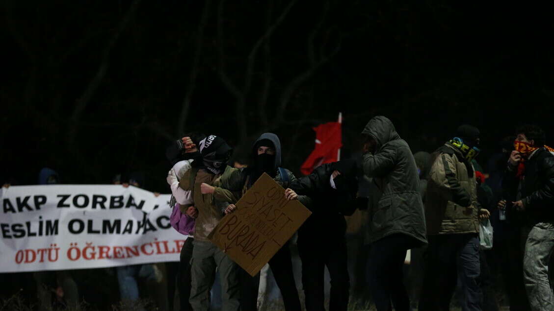
[[[378,311],[409,310],[410,300],[404,286],[406,251],[415,245],[412,237],[393,234],[373,242],[368,261],[373,302]],[[392,304],[391,304],[392,302]]]

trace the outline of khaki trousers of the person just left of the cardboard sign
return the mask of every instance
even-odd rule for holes
[[[238,266],[222,250],[209,241],[194,240],[191,261],[191,298],[195,311],[209,310],[209,291],[219,269],[222,286],[222,311],[238,311],[240,287]]]

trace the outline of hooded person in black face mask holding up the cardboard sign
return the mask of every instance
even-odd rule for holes
[[[252,152],[250,153],[250,162],[252,164],[240,170],[235,170],[233,174],[224,175],[221,179],[220,187],[204,186],[205,193],[213,193],[214,197],[220,201],[236,203],[261,176],[266,173],[276,182],[295,180],[296,177],[289,170],[281,168],[281,143],[279,137],[273,133],[264,133],[254,142]],[[231,192],[229,192],[231,191]],[[233,195],[229,195],[233,193]],[[309,204],[309,199],[300,198],[302,203]],[[226,209],[226,213],[233,212],[236,209],[231,204]],[[283,245],[273,258],[269,260],[269,267],[275,277],[275,282],[279,286],[285,310],[300,310],[300,299],[296,290],[294,281],[293,266],[291,262],[289,243]],[[240,269],[241,279],[241,310],[257,310],[258,288],[260,274],[252,277],[248,272]]]

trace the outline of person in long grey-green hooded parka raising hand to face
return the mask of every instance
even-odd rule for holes
[[[391,120],[373,117],[362,131],[363,173],[373,179],[368,242],[369,277],[377,310],[409,310],[403,284],[404,258],[423,246],[425,219],[416,160]],[[391,305],[392,303],[392,305]]]

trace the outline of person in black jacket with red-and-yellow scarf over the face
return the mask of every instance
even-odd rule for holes
[[[532,310],[554,310],[548,262],[554,249],[554,150],[535,125],[517,129],[502,187],[506,219],[521,219],[526,238],[523,277]],[[529,234],[526,234],[529,232]]]

